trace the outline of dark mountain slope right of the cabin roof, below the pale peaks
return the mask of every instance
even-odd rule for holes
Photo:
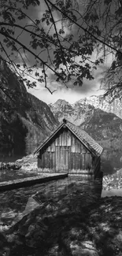
[[[105,174],[113,173],[122,166],[122,120],[113,113],[94,109],[91,119],[81,128],[91,135],[103,148],[102,169]]]

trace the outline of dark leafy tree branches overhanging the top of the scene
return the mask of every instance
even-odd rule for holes
[[[41,16],[31,15],[30,9],[37,11],[38,6],[45,7]],[[66,87],[69,82],[82,86],[84,78],[94,79],[94,70],[111,54],[102,84],[105,95],[120,95],[120,0],[2,0],[0,7],[1,57],[28,87],[34,87],[36,80],[47,87],[50,72]],[[33,72],[36,79],[31,83]]]

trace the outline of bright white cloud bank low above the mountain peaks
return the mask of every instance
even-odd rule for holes
[[[40,70],[41,71],[41,70]],[[50,71],[48,75],[50,76]],[[52,78],[52,76],[50,76]],[[31,81],[33,81],[31,79]],[[102,91],[100,91],[100,83],[98,79],[94,79],[92,81],[84,80],[82,87],[74,87],[72,83],[68,88],[63,86],[61,83],[57,83],[55,80],[50,78],[47,79],[47,86],[50,87],[50,90],[54,91],[53,95],[50,94],[45,88],[45,83],[37,83],[37,87],[27,89],[32,95],[39,98],[43,102],[54,103],[57,99],[65,99],[65,101],[74,103],[78,101],[80,98],[88,97],[91,95],[101,95]]]

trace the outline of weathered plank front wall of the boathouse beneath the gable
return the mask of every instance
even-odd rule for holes
[[[93,173],[91,153],[67,128],[40,150],[38,165],[47,173]]]

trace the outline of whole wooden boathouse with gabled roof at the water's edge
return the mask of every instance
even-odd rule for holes
[[[35,154],[41,173],[80,173],[95,179],[101,172],[102,147],[65,119]]]

